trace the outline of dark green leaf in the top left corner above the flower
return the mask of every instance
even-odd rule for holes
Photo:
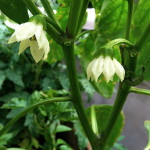
[[[17,23],[27,22],[28,12],[22,0],[0,0],[0,10]]]

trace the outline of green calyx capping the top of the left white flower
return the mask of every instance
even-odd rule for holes
[[[29,22],[35,22],[36,24],[42,24],[44,30],[46,30],[46,21],[44,19],[44,15],[42,15],[42,14],[32,16],[29,19]]]

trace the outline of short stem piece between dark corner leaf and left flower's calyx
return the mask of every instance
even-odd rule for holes
[[[32,0],[23,0],[23,2],[33,15],[42,14],[37,6],[32,2]]]

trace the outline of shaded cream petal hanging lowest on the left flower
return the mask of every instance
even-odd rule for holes
[[[31,55],[34,58],[34,60],[36,61],[36,63],[38,63],[44,55],[44,50],[39,49],[37,41],[30,42],[30,51],[31,51]]]

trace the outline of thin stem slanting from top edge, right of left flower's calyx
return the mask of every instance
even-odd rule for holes
[[[49,18],[51,18],[52,20],[54,20],[55,23],[57,23],[57,25],[60,26],[57,18],[55,17],[53,9],[51,8],[51,5],[50,5],[49,1],[48,0],[41,0],[41,3],[43,5],[43,7],[44,7],[44,9],[45,9],[45,11],[47,13],[47,15],[49,16]]]

